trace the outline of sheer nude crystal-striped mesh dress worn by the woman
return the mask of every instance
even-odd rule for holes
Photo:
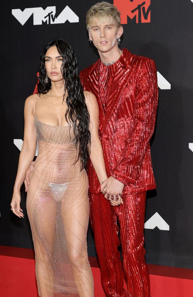
[[[30,173],[27,212],[41,297],[92,297],[87,255],[88,178],[75,165],[73,129],[43,124],[35,116],[39,152]]]

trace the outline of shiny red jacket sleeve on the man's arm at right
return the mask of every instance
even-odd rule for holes
[[[135,184],[145,151],[154,132],[158,101],[157,73],[153,60],[144,59],[137,75],[137,96],[131,136],[112,176]]]

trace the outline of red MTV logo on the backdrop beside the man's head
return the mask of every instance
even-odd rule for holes
[[[114,0],[121,12],[121,24],[127,24],[127,16],[136,18],[136,23],[150,23],[150,0]]]

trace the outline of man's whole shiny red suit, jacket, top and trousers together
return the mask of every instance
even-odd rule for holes
[[[125,185],[124,204],[111,206],[100,193],[97,175],[88,162],[90,219],[105,294],[149,297],[143,226],[146,190],[156,187],[149,146],[158,99],[156,66],[153,60],[124,49],[115,64],[104,66],[99,59],[83,69],[80,77],[84,89],[91,91],[99,104],[99,136],[107,175]]]

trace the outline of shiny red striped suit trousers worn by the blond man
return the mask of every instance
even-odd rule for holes
[[[106,296],[150,297],[149,274],[143,246],[146,192],[125,195],[124,204],[120,206],[111,206],[102,193],[90,193],[89,196],[91,227]],[[117,218],[123,265],[118,251],[120,241]],[[127,293],[123,288],[124,274]]]

